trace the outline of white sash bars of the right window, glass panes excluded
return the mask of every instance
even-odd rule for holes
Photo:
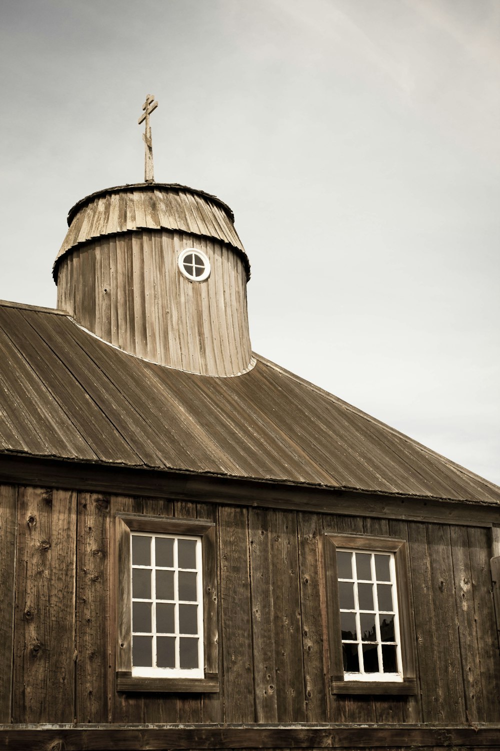
[[[382,681],[394,681],[394,682],[401,682],[403,681],[403,664],[401,659],[401,638],[400,638],[400,618],[399,618],[399,611],[398,611],[398,602],[397,602],[397,581],[396,581],[396,565],[394,561],[394,553],[390,553],[388,551],[382,551],[382,550],[360,550],[359,548],[355,547],[337,547],[337,553],[350,553],[351,554],[351,566],[352,566],[352,578],[351,579],[345,579],[338,577],[338,582],[348,582],[354,584],[354,599],[355,599],[355,607],[354,609],[348,609],[348,608],[339,608],[340,613],[353,613],[355,614],[355,620],[356,620],[356,630],[358,639],[352,640],[352,639],[342,639],[342,644],[357,644],[358,646],[358,661],[360,666],[360,671],[357,673],[347,672],[344,671],[344,680],[382,680]],[[362,579],[358,577],[358,570],[356,566],[356,553],[364,553],[365,555],[370,555],[370,571],[372,578],[371,580],[368,579]],[[375,569],[375,556],[376,555],[385,555],[389,558],[389,572],[391,576],[391,581],[382,581],[376,578],[376,569]],[[358,598],[358,584],[372,584],[373,585],[373,611],[366,611],[362,609],[359,605],[359,598]],[[378,593],[377,593],[377,584],[391,584],[392,587],[392,602],[393,602],[393,610],[390,611],[390,614],[394,614],[394,641],[391,642],[382,642],[381,634],[380,634],[380,616],[389,614],[389,611],[380,611],[379,609],[379,599],[378,599]],[[375,628],[376,628],[376,640],[375,641],[362,641],[362,635],[361,635],[361,624],[360,624],[360,615],[361,613],[370,613],[375,616]],[[396,647],[396,662],[397,662],[397,672],[391,673],[391,672],[376,672],[376,673],[369,673],[364,670],[364,656],[363,656],[363,646],[364,644],[376,644],[377,645],[377,656],[379,659],[379,665],[382,665],[383,667],[383,661],[382,661],[382,644],[390,644],[391,646]]]

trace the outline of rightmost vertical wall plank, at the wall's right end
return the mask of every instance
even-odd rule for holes
[[[472,572],[474,612],[478,628],[481,683],[483,685],[483,722],[496,722],[499,718],[500,655],[496,638],[495,606],[491,580],[490,530],[468,527],[469,556]]]

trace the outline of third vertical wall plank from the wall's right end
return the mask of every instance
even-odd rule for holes
[[[427,548],[437,645],[435,669],[445,698],[442,712],[445,722],[463,722],[466,711],[449,527],[427,524]]]

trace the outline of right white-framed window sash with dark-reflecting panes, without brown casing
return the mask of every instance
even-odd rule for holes
[[[402,681],[394,553],[337,548],[344,680]]]

